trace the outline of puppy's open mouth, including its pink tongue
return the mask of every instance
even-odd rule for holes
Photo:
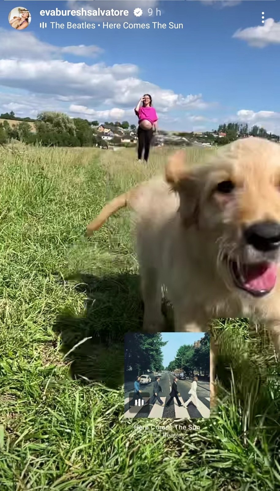
[[[277,279],[277,264],[261,262],[242,264],[228,258],[235,285],[254,297],[263,297],[273,290]]]

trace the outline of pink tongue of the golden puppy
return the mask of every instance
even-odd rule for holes
[[[262,290],[272,290],[276,283],[277,265],[262,263],[247,266],[244,277],[244,286],[248,290],[258,292]]]

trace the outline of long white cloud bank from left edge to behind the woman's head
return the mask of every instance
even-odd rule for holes
[[[0,59],[0,84],[49,94],[66,102],[88,107],[111,106],[132,108],[141,94],[152,95],[159,111],[171,109],[204,109],[202,94],[176,94],[171,89],[144,82],[137,77],[138,67],[130,64],[87,65],[62,60]]]

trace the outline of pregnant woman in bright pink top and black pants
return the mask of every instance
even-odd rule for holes
[[[142,159],[144,151],[144,160],[148,162],[150,146],[153,138],[153,131],[157,132],[158,117],[152,106],[152,97],[145,94],[141,97],[136,108],[134,109],[138,117],[138,160]]]

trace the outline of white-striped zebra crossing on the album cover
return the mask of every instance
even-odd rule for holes
[[[153,406],[136,406],[129,410],[129,401],[132,397],[125,398],[125,418],[209,418],[210,417],[210,398],[202,397],[198,398],[200,407],[196,408],[190,403],[187,408],[178,406],[176,399],[174,398],[174,405],[171,404],[169,408],[165,407],[169,397],[160,397],[163,405],[160,406],[158,401]],[[143,397],[145,403],[149,401],[148,397]],[[184,403],[183,399],[179,397],[181,404]]]

